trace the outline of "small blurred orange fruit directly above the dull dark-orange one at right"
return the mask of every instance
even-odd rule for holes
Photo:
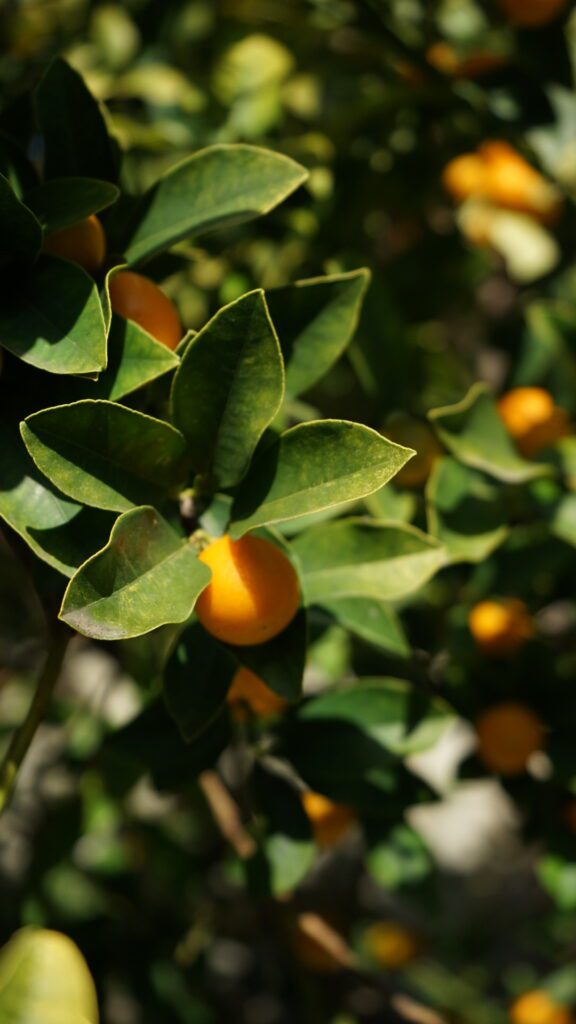
[[[511,654],[534,635],[534,623],[517,598],[480,601],[468,615],[476,644],[485,654]]]

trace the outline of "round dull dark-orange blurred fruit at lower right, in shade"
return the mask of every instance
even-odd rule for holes
[[[520,775],[532,754],[542,749],[544,728],[539,718],[522,703],[495,705],[478,718],[478,756],[500,775]]]

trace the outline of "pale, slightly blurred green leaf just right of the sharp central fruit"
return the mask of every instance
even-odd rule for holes
[[[395,601],[422,587],[446,551],[415,526],[340,519],[306,530],[292,543],[308,603],[341,597]]]

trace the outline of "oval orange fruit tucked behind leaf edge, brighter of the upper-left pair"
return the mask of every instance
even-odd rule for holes
[[[110,301],[115,313],[133,321],[167,348],[176,348],[181,340],[182,329],[173,302],[150,278],[120,270],[110,282]]]

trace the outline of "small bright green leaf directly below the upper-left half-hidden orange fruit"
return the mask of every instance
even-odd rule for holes
[[[137,324],[113,316],[108,336],[108,366],[95,383],[83,383],[86,397],[118,401],[179,365],[177,355]]]

